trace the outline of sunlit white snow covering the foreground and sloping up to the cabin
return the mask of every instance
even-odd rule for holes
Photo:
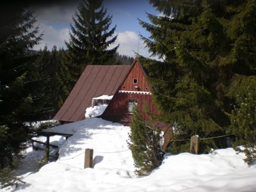
[[[83,126],[62,145],[58,161],[27,174],[20,191],[256,191],[255,166],[232,148],[166,154],[159,168],[138,178],[127,147],[129,127],[100,118],[77,124]],[[93,168],[83,169],[85,148],[94,150]]]

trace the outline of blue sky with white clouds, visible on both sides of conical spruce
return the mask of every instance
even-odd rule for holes
[[[65,47],[65,40],[69,39],[68,31],[72,23],[72,15],[77,10],[79,1],[64,2],[58,4],[40,4],[32,7],[38,20],[40,31],[44,33],[43,40],[35,49],[40,49],[47,44],[48,49],[53,45]],[[134,51],[138,51],[143,56],[149,56],[147,49],[143,45],[139,34],[149,36],[150,34],[143,29],[138,18],[148,21],[147,14],[158,15],[155,8],[147,0],[105,0],[104,8],[108,14],[112,15],[112,27],[116,25],[118,38],[114,47],[120,44],[118,52],[127,56],[134,56]],[[139,49],[138,49],[139,46]],[[111,48],[111,47],[110,47]]]

